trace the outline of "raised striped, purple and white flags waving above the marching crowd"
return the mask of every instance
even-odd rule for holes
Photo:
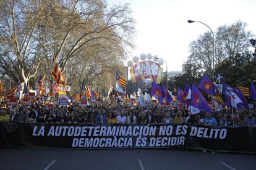
[[[59,68],[58,63],[55,59],[53,59],[53,69],[52,69],[52,77],[55,79],[56,83],[50,84],[51,89],[51,95],[56,94],[59,92],[59,86],[64,87],[66,85],[66,80],[64,75],[61,72],[61,68]],[[40,76],[38,79],[38,86],[40,87],[40,97],[42,97],[45,94],[45,87],[44,84],[45,76]],[[151,93],[148,94],[147,92],[143,92],[140,87],[138,88],[137,92],[134,92],[134,94],[130,94],[130,97],[126,94],[126,83],[127,79],[124,79],[120,73],[116,73],[116,86],[115,88],[109,84],[109,90],[108,95],[106,96],[106,99],[109,99],[110,97],[119,97],[121,101],[127,102],[130,99],[135,99],[139,105],[146,106],[147,102],[150,102],[151,100],[157,100],[158,103],[181,103],[183,105],[186,105],[190,108],[197,108],[201,111],[206,111],[207,113],[211,112],[211,108],[208,105],[207,100],[205,100],[204,96],[210,96],[211,99],[214,99],[216,102],[220,103],[220,105],[224,105],[229,108],[236,108],[236,109],[243,109],[248,108],[248,102],[247,97],[250,97],[252,100],[256,101],[256,90],[253,83],[251,83],[250,88],[249,87],[230,87],[228,84],[223,83],[222,84],[222,91],[220,92],[220,89],[217,88],[216,84],[213,83],[206,75],[202,77],[202,80],[198,84],[198,86],[195,86],[195,84],[186,84],[184,90],[182,90],[181,87],[174,88],[174,93],[176,95],[173,95],[171,91],[168,91],[166,86],[162,84],[161,86],[156,84],[155,82],[152,83],[151,86]],[[23,86],[23,87],[22,87]],[[198,89],[200,89],[200,92]],[[2,83],[0,80],[0,92],[3,92],[4,88],[2,87]],[[12,89],[10,92],[7,92],[7,96],[14,95],[14,92],[23,91],[23,94],[27,94],[30,92],[30,87],[28,82],[27,83],[20,83],[20,81],[17,83],[17,85]],[[61,90],[62,91],[62,90]],[[113,96],[113,91],[116,96]],[[66,95],[66,91],[63,90],[63,93],[59,92],[59,94]],[[110,96],[112,95],[112,96]],[[96,89],[96,92],[93,90],[90,90],[90,87],[87,85],[85,86],[84,91],[82,91],[82,94],[74,94],[72,96],[73,99],[79,101],[79,100],[85,100],[85,99],[98,99],[100,97],[100,94],[98,92],[98,88]],[[223,100],[224,99],[224,100]]]

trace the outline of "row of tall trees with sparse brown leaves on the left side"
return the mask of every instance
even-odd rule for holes
[[[111,74],[134,46],[129,4],[2,0],[0,9],[0,73],[13,82],[33,85],[39,75],[53,82],[55,57],[73,89],[81,91],[85,84],[107,89]]]

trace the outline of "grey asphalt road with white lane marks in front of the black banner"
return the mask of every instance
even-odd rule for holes
[[[0,148],[0,169],[256,169],[256,155],[163,149]]]

